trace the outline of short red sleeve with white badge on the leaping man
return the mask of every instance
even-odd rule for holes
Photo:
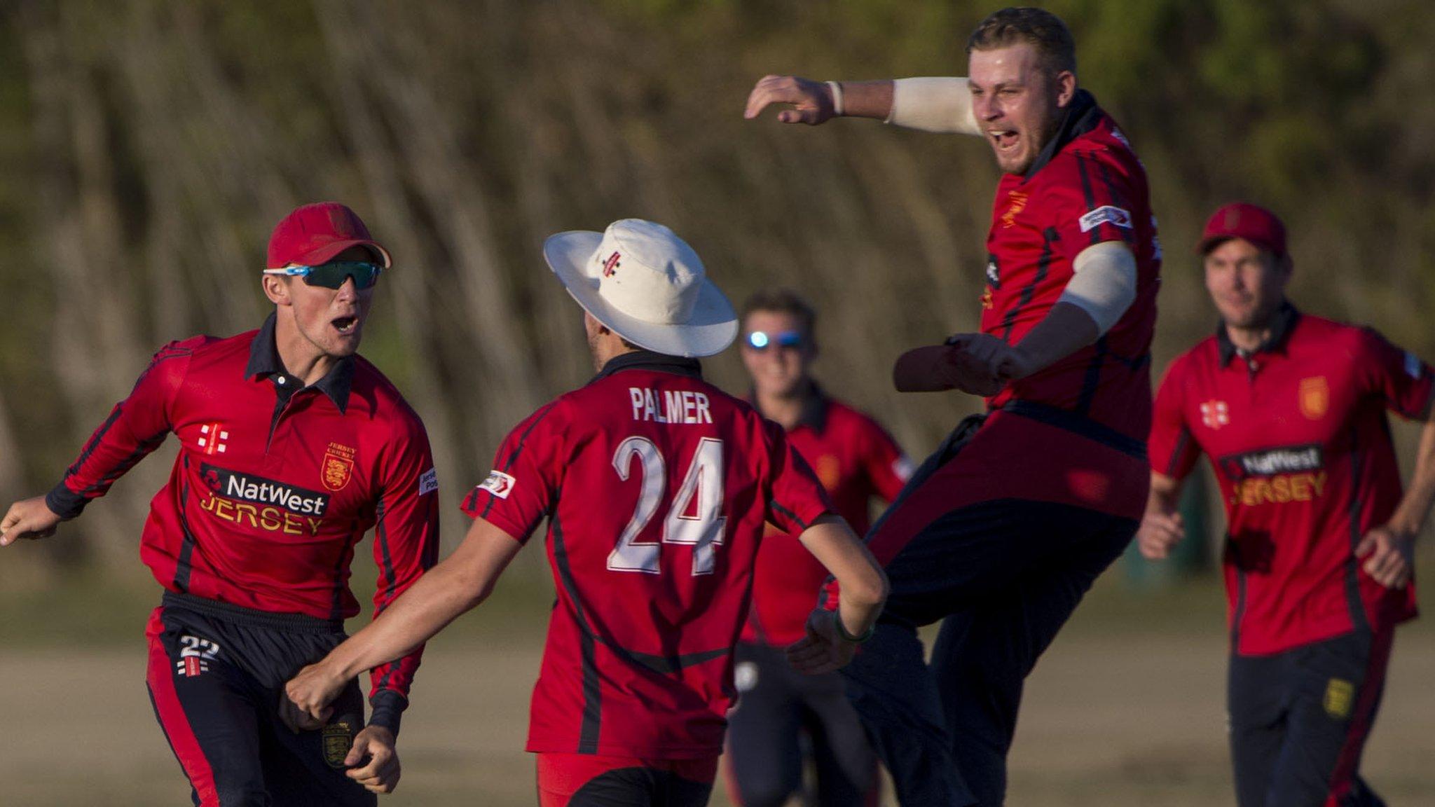
[[[1075,152],[1062,169],[1068,175],[1049,185],[1048,201],[1066,260],[1105,241],[1121,241],[1137,254],[1137,194],[1125,171],[1101,152]]]

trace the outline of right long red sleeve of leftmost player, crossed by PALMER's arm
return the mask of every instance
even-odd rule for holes
[[[418,415],[409,414],[405,434],[395,442],[385,462],[383,494],[375,516],[373,560],[379,566],[375,617],[432,569],[439,554],[439,482],[429,437]],[[399,715],[409,704],[409,686],[422,658],[419,645],[402,659],[369,672],[370,724],[399,732]]]

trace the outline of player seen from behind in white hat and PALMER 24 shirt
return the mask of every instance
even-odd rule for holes
[[[852,656],[885,580],[782,429],[702,379],[695,358],[738,323],[684,241],[623,220],[552,235],[544,257],[585,312],[598,375],[508,435],[464,501],[464,544],[288,694],[327,717],[349,669],[402,656],[482,602],[547,518],[558,605],[528,732],[540,804],[706,804],[763,523],[844,586],[838,612],[814,610],[789,648],[802,671]]]

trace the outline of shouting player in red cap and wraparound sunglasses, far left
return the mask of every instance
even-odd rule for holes
[[[347,582],[364,533],[376,612],[436,560],[433,460],[418,415],[356,355],[389,267],[363,221],[300,207],[274,228],[268,267],[264,326],[161,349],[63,481],[10,507],[0,546],[53,534],[172,432],[179,455],[139,549],[165,587],[146,684],[194,803],[375,804],[399,778],[422,648],[373,665],[367,727],[354,676],[311,731],[291,731],[281,686],[359,613]]]

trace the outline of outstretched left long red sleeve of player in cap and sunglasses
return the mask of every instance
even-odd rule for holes
[[[197,336],[171,342],[155,353],[129,398],[115,404],[60,484],[46,494],[50,511],[75,518],[90,500],[105,495],[125,471],[159,448],[172,431],[174,401],[189,369],[189,358],[204,340]]]

